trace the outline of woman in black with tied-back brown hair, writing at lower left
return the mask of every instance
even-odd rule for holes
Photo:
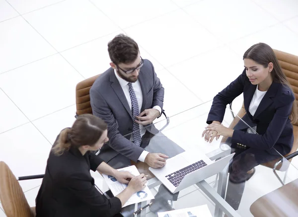
[[[54,143],[36,198],[37,217],[112,217],[146,184],[144,174],[119,172],[92,151],[108,142],[107,125],[93,115],[80,115]],[[128,187],[110,200],[94,186],[90,169],[115,177]]]

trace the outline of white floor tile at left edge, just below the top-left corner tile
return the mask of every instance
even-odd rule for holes
[[[20,16],[0,22],[0,32],[0,73],[56,53]]]

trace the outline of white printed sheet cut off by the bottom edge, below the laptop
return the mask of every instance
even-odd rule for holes
[[[158,217],[212,217],[207,205],[167,211],[157,213],[157,215]]]

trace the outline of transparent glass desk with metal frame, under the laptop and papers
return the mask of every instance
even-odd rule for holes
[[[214,217],[222,217],[224,214],[228,217],[251,217],[250,206],[258,198],[274,191],[298,178],[298,169],[274,148],[270,154],[259,154],[247,151],[247,147],[241,144],[232,144],[230,138],[220,137],[218,141],[212,143],[205,142],[202,133],[207,126],[206,121],[212,105],[212,101],[203,103],[194,108],[183,111],[174,116],[155,120],[156,123],[147,126],[141,130],[142,144],[149,152],[160,152],[170,157],[183,152],[199,148],[211,160],[216,161],[232,152],[238,154],[234,156],[233,163],[227,164],[223,171],[208,179],[205,179],[196,185],[192,185],[176,194],[171,194],[161,182],[149,171],[146,163],[138,162],[135,164],[140,173],[149,175],[148,186],[151,189],[155,199],[152,205],[138,214],[139,217],[156,217],[157,212],[164,212],[173,209],[182,209],[194,206],[208,204],[209,210]],[[234,112],[226,108],[223,125],[229,127],[234,120]],[[236,117],[238,125],[248,126],[242,119]],[[234,122],[235,122],[234,121]],[[237,125],[237,126],[238,126]],[[255,132],[252,128],[251,133]],[[130,138],[131,135],[127,135]],[[244,149],[244,151],[243,151]],[[240,154],[241,153],[241,154]],[[264,165],[257,165],[262,161],[278,161],[282,163],[277,166],[276,172],[272,168]],[[237,180],[247,176],[245,170],[247,162],[255,166],[255,174],[246,182],[234,183]],[[273,164],[272,164],[273,163]],[[275,162],[271,162],[272,165]],[[126,165],[124,165],[126,166]],[[235,172],[236,171],[236,172]],[[240,174],[240,175],[238,175]],[[230,176],[230,178],[229,178]],[[233,180],[233,182],[230,181]],[[123,208],[124,216],[133,216],[133,212],[150,203],[145,201],[137,205],[131,205]]]

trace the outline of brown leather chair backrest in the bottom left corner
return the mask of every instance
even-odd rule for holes
[[[34,217],[21,186],[3,161],[0,161],[0,201],[7,217]]]

